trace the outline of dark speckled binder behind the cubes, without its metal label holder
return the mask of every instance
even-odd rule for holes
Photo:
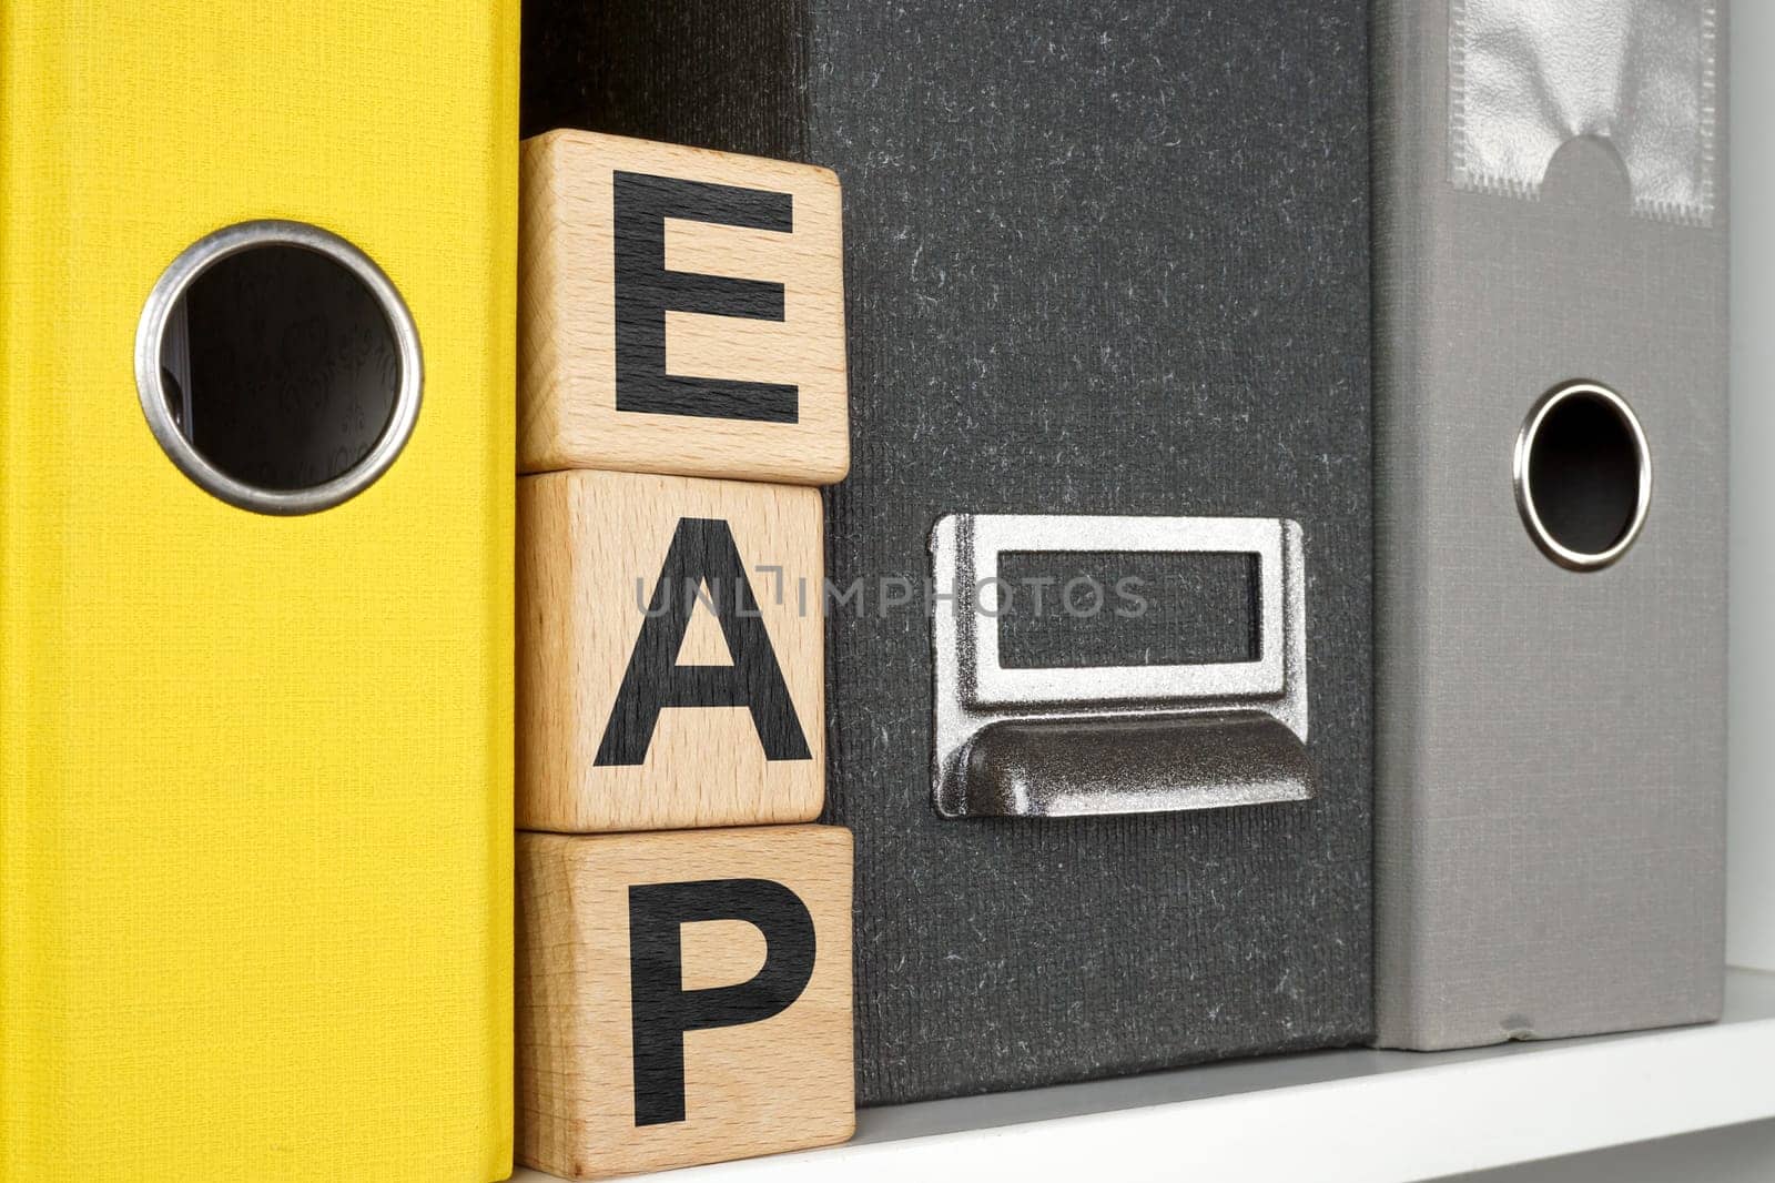
[[[843,179],[836,581],[921,577],[960,510],[1305,529],[1299,805],[943,821],[927,620],[834,616],[864,1103],[1372,1034],[1365,37],[1358,0],[527,5],[527,131]]]

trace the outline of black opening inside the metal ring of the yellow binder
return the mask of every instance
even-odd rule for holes
[[[178,432],[220,472],[272,492],[362,464],[401,389],[376,295],[330,256],[289,243],[206,266],[167,320],[160,366]]]

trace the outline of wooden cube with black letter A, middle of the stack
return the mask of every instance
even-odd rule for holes
[[[797,485],[518,480],[520,830],[818,817],[820,517]]]

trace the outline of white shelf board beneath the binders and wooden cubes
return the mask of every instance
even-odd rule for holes
[[[753,1179],[1404,1183],[1775,1117],[1775,973],[1708,1027],[1473,1052],[1319,1052],[870,1108],[847,1146],[671,1172]],[[513,1183],[548,1183],[518,1171]]]

